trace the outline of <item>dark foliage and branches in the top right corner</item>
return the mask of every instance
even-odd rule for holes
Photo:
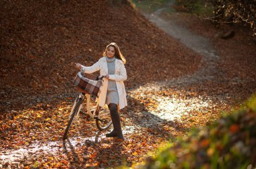
[[[207,15],[215,23],[245,23],[256,35],[256,1],[234,0],[176,0],[176,9]],[[214,13],[214,17],[212,17]]]

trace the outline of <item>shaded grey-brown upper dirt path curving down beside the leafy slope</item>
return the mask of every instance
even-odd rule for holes
[[[172,2],[168,4],[167,7],[158,9],[152,14],[144,14],[152,23],[155,23],[160,27],[164,32],[179,40],[182,44],[185,44],[187,48],[191,48],[193,51],[201,54],[203,60],[197,72],[193,74],[187,74],[177,79],[170,80],[168,82],[160,82],[159,87],[166,85],[175,85],[175,84],[193,84],[195,82],[203,82],[205,80],[214,80],[216,74],[220,75],[221,72],[218,71],[216,67],[216,62],[220,60],[218,52],[212,47],[210,41],[193,34],[191,31],[187,30],[183,25],[177,24],[174,20],[166,21],[161,17],[162,11],[169,9],[172,6]],[[189,64],[189,63],[188,63]]]

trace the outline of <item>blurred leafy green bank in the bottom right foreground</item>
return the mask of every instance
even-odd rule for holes
[[[195,129],[139,168],[253,168],[255,142],[256,97],[210,127]]]

